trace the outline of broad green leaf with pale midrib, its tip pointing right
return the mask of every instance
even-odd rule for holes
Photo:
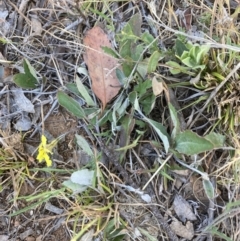
[[[196,133],[187,130],[176,136],[175,149],[186,155],[194,155],[214,149],[214,145]]]

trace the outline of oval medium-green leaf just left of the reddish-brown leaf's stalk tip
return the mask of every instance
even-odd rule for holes
[[[72,113],[74,116],[78,118],[85,118],[85,113],[81,108],[80,104],[76,100],[74,100],[62,91],[58,91],[57,99],[59,104],[63,106],[66,110],[68,110],[70,113]]]

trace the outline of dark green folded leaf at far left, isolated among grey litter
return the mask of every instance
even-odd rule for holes
[[[23,61],[24,74],[19,73],[13,76],[14,83],[24,89],[36,88],[38,85],[37,75],[28,60]]]

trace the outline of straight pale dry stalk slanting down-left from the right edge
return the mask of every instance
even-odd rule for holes
[[[237,72],[237,70],[240,68],[240,63],[237,64],[237,66],[228,74],[228,76],[225,78],[225,80],[223,82],[221,82],[210,94],[210,96],[208,97],[207,101],[205,102],[204,106],[202,107],[202,109],[198,112],[198,115],[196,116],[195,120],[191,123],[191,125],[189,126],[189,129],[196,123],[196,121],[198,120],[198,118],[200,117],[200,115],[203,113],[203,111],[206,109],[206,107],[208,106],[208,104],[210,103],[210,101],[215,97],[215,95],[217,94],[217,92],[227,83],[227,81],[235,74],[235,72]]]

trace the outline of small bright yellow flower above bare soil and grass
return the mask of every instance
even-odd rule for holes
[[[57,144],[53,145],[52,141],[50,144],[47,144],[47,138],[42,135],[41,137],[41,144],[38,147],[38,155],[37,155],[37,160],[39,162],[42,162],[45,160],[46,164],[48,167],[52,165],[52,160],[50,159],[49,154],[52,154],[52,148]]]

